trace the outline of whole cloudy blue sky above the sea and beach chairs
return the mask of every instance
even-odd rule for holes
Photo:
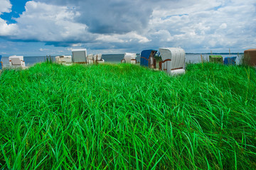
[[[0,0],[0,55],[256,48],[255,0]]]

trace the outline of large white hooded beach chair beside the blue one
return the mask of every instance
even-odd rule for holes
[[[159,48],[163,61],[159,62],[159,69],[168,74],[185,73],[185,51],[182,48],[162,47]]]

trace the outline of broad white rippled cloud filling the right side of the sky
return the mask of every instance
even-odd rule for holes
[[[191,4],[192,3],[192,4]],[[183,7],[181,4],[185,4]],[[149,35],[165,33],[161,40],[169,39],[172,45],[189,50],[226,50],[229,47],[241,49],[255,47],[255,2],[254,1],[178,1],[173,8],[157,8],[151,19]],[[179,9],[179,8],[182,8]],[[167,43],[166,43],[167,44]]]

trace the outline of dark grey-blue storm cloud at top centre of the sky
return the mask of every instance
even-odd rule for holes
[[[75,18],[78,23],[88,26],[91,33],[129,33],[146,28],[153,12],[151,1],[45,1],[75,8],[80,16]]]

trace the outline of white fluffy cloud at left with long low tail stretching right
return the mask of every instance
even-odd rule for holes
[[[9,35],[12,40],[27,40],[41,42],[60,42],[60,45],[79,42],[149,42],[147,38],[138,33],[104,35],[90,33],[88,26],[78,23],[75,18],[81,17],[80,11],[67,6],[56,6],[36,1],[26,3],[26,11],[15,24],[7,25],[0,18],[0,29],[4,30],[0,35]],[[8,31],[8,32],[6,32]]]

